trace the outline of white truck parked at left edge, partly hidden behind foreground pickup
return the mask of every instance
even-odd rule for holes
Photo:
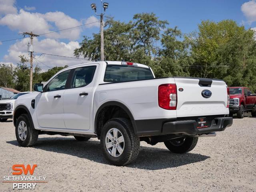
[[[15,100],[24,94],[28,94],[30,92],[20,92],[10,99],[0,100],[0,122],[6,122],[9,118],[12,119],[13,109]]]

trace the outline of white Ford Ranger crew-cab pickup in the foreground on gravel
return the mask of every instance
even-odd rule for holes
[[[155,78],[150,67],[132,62],[68,67],[34,90],[16,100],[20,146],[34,145],[38,134],[98,137],[105,158],[118,166],[136,159],[140,141],[185,153],[199,136],[215,136],[233,121],[224,81]]]

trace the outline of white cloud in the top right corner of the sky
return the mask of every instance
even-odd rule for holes
[[[256,21],[256,0],[250,0],[242,4],[241,10],[246,16],[249,24]]]

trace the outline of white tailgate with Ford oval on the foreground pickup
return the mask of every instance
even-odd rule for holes
[[[226,83],[206,78],[174,77],[177,86],[177,117],[228,114]],[[209,90],[212,94],[206,97]],[[203,94],[205,93],[205,95]],[[209,96],[209,95],[208,95]]]

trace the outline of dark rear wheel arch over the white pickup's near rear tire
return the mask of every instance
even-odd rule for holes
[[[125,112],[127,114],[127,118],[129,118],[130,121],[132,122],[134,132],[136,133],[136,124],[134,122],[134,117],[133,117],[132,113],[130,112],[130,110],[128,109],[128,107],[118,101],[108,101],[108,102],[102,104],[98,108],[95,118],[94,118],[94,132],[95,132],[95,134],[98,135],[98,138],[100,137],[100,131],[101,131],[101,128],[103,127],[103,125],[100,125],[100,123],[99,123],[100,115],[102,115],[102,113],[104,113],[104,110],[109,110],[110,108],[119,108],[120,110],[123,110],[123,112]],[[120,116],[120,117],[122,117],[122,116]],[[114,117],[112,117],[112,118],[114,118]],[[106,118],[106,119],[109,120],[110,118]]]

